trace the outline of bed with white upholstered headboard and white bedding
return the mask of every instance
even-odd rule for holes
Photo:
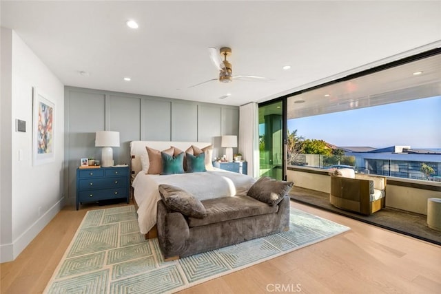
[[[162,151],[172,146],[185,152],[190,146],[204,149],[209,145],[212,145],[212,143],[182,141],[132,141],[130,143],[132,188],[141,233],[147,235],[155,227],[156,204],[161,199],[158,185],[174,185],[192,193],[199,200],[207,200],[245,195],[249,187],[254,184],[256,180],[251,176],[212,167],[211,160],[213,156],[209,151],[210,149],[205,149],[205,166],[207,169],[205,172],[170,175],[146,174],[146,147]]]

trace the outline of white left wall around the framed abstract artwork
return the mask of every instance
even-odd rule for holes
[[[9,71],[3,72],[2,66],[1,72],[1,143],[6,145],[1,150],[1,175],[10,174],[6,180],[1,178],[0,258],[5,262],[17,258],[63,207],[64,86],[20,37],[6,28],[1,28],[1,55],[2,64],[3,60],[11,63]],[[4,81],[3,74],[7,76]],[[3,87],[10,88],[10,93],[6,90],[3,95]],[[37,166],[32,166],[32,87],[54,103],[54,160]],[[15,132],[17,118],[25,120],[26,132]],[[10,205],[3,207],[3,203]]]

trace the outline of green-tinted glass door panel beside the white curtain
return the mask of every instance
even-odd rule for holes
[[[259,105],[259,176],[285,179],[283,100]]]

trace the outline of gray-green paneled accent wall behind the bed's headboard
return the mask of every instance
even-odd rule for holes
[[[172,98],[65,87],[66,195],[75,200],[75,176],[80,158],[101,159],[95,132],[120,132],[114,162],[130,164],[130,141],[201,141],[214,144],[222,156],[220,136],[238,135],[239,108]],[[234,150],[236,152],[236,150]]]

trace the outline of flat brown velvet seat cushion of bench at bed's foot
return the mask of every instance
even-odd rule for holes
[[[270,207],[249,196],[232,196],[214,198],[202,201],[207,216],[202,219],[189,217],[189,227],[201,227],[216,222],[247,218],[249,216],[260,216],[268,213],[276,213],[278,205]]]

